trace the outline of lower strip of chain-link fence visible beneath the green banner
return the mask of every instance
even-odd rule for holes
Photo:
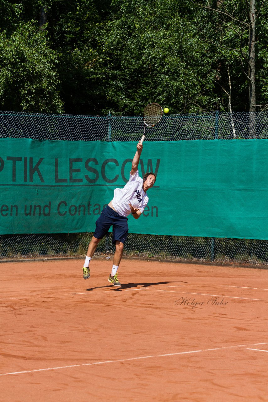
[[[0,260],[30,258],[84,258],[93,233],[28,234],[0,236]],[[103,238],[96,255],[112,256],[110,236]],[[185,236],[129,234],[124,256],[214,262],[221,264],[268,265],[266,240],[216,239]]]

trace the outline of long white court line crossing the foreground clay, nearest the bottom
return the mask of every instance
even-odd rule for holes
[[[266,345],[268,342],[264,343],[254,343],[255,345]],[[209,352],[209,351],[216,351],[220,349],[232,349],[232,348],[241,348],[247,345],[235,345],[235,346],[224,346],[219,348],[212,348],[212,349],[203,349],[203,350],[194,350],[194,351],[186,351],[186,352],[177,352],[177,353],[165,353],[163,355],[150,355],[150,356],[139,356],[139,357],[130,357],[128,359],[117,359],[117,360],[106,360],[106,361],[96,361],[94,363],[82,363],[82,364],[72,364],[69,366],[60,366],[60,367],[47,367],[46,369],[35,369],[35,370],[24,370],[24,371],[13,371],[11,373],[1,373],[0,376],[4,375],[14,375],[14,374],[25,374],[25,373],[35,373],[37,371],[49,371],[49,370],[60,370],[60,369],[68,369],[71,367],[84,367],[84,366],[93,366],[94,364],[106,364],[106,363],[119,363],[122,361],[132,361],[132,360],[139,360],[139,359],[150,359],[156,357],[166,357],[166,356],[178,356],[178,355],[186,355],[191,353],[200,353],[200,352]]]

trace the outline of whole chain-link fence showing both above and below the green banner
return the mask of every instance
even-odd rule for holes
[[[67,141],[137,141],[141,116],[49,115],[0,111],[0,137]],[[148,141],[268,138],[268,112],[164,115],[147,129]],[[84,256],[92,233],[1,235],[0,260]],[[110,236],[97,253],[114,252]],[[268,241],[129,234],[125,256],[217,263],[268,264]]]

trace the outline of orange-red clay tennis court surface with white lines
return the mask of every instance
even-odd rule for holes
[[[1,263],[3,402],[267,401],[268,271]]]

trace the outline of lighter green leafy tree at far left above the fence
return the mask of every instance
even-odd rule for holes
[[[60,113],[57,55],[47,45],[47,33],[35,23],[20,23],[0,36],[0,100],[14,111]]]

